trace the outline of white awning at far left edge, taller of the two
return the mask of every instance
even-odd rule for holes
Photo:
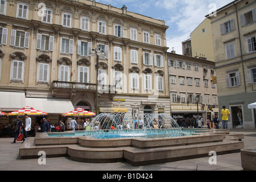
[[[26,105],[24,92],[0,92],[0,110],[13,111]]]

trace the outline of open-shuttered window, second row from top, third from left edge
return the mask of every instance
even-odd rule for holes
[[[53,51],[54,36],[38,34],[36,48],[42,51]]]

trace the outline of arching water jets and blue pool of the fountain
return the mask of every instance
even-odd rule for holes
[[[143,125],[139,125],[142,119]],[[93,138],[163,138],[188,135],[168,114],[101,113],[93,118],[84,136]]]

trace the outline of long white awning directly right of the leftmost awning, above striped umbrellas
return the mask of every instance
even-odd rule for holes
[[[63,114],[75,109],[71,100],[60,98],[26,98],[26,105],[48,114]]]

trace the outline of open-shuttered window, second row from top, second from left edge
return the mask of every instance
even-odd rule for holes
[[[28,48],[30,32],[11,30],[10,46]]]

